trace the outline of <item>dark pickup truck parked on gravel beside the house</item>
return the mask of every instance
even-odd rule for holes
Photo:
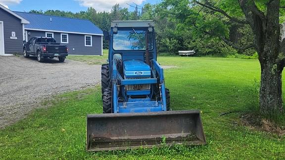
[[[28,42],[24,42],[24,57],[30,55],[37,56],[39,62],[44,62],[45,59],[58,57],[59,62],[64,62],[68,55],[66,45],[60,45],[53,38],[33,37]]]

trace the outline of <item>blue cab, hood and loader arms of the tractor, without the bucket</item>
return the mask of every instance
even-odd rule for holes
[[[109,39],[110,79],[116,80],[102,86],[105,89],[112,85],[113,89],[115,103],[114,107],[105,106],[111,108],[108,112],[169,110],[169,91],[156,61],[154,22],[112,21],[110,35],[105,32],[105,38]]]

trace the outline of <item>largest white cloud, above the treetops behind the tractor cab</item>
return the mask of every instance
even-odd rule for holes
[[[120,4],[121,7],[129,7],[129,4],[133,2],[140,5],[145,0],[76,0],[79,4],[85,7],[93,7],[97,11],[111,11],[112,6],[116,3]],[[133,5],[135,5],[133,3]]]

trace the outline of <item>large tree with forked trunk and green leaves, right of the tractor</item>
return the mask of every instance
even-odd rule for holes
[[[238,49],[253,46],[261,66],[260,112],[274,117],[284,114],[282,71],[285,67],[285,50],[280,41],[280,17],[281,13],[284,15],[280,8],[285,8],[284,0],[282,4],[280,0],[182,0],[179,3],[176,0],[164,0],[164,4],[178,10],[176,18],[185,23],[190,22],[198,29],[196,32],[218,37]],[[198,11],[197,4],[201,7]],[[254,36],[253,45],[241,47],[228,40],[225,33],[229,31],[221,23],[223,21],[209,18],[197,25],[197,21],[205,19],[199,16],[203,8],[207,9],[206,14],[222,17],[227,22],[249,25]]]

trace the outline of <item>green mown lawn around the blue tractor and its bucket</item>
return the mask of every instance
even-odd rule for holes
[[[82,56],[84,59],[85,56]],[[90,56],[88,56],[90,57]],[[97,56],[92,56],[92,60]],[[99,57],[100,58],[100,57]],[[285,159],[285,136],[241,125],[256,102],[258,60],[159,57],[172,110],[200,109],[207,145],[86,152],[86,115],[101,113],[100,87],[58,95],[26,119],[0,130],[1,159]],[[231,114],[220,114],[236,111]],[[146,128],[147,129],[147,128]]]

